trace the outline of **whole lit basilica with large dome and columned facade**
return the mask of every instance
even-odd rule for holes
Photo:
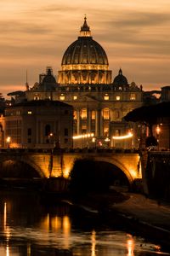
[[[94,41],[86,17],[77,40],[65,50],[57,79],[52,67],[47,67],[36,84],[26,84],[25,93],[28,102],[59,101],[73,107],[76,148],[93,143],[95,147],[138,147],[137,130],[123,117],[143,104],[142,86],[129,84],[122,69],[112,79],[105,49]],[[135,139],[116,140],[129,132]]]

